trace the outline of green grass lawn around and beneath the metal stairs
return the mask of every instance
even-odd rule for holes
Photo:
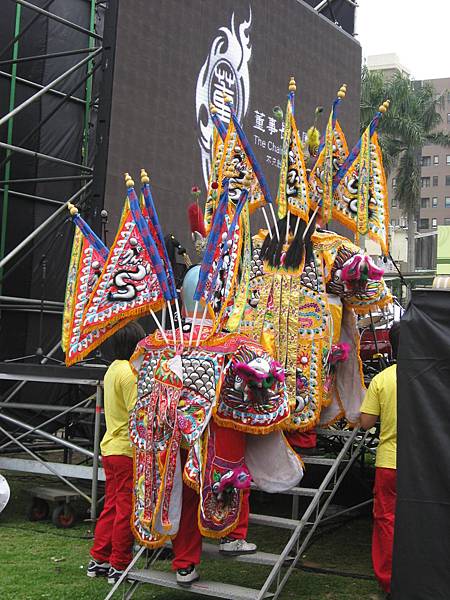
[[[45,483],[41,478],[6,474],[12,498],[0,515],[0,599],[1,600],[101,600],[110,589],[104,579],[89,579],[92,527],[80,523],[72,529],[57,529],[50,522],[27,520],[29,488]],[[51,485],[55,486],[53,481]],[[263,507],[258,507],[262,509]],[[261,550],[282,549],[288,533],[273,528],[253,527],[248,539]],[[303,556],[300,569],[291,576],[280,598],[283,600],[378,600],[378,586],[370,561],[370,517],[358,517],[319,532]],[[158,563],[170,569],[169,561]],[[327,573],[320,573],[326,570]],[[333,573],[335,571],[336,574]],[[248,587],[260,587],[267,568],[232,560],[205,560],[200,566],[203,579],[219,579]],[[116,594],[120,598],[120,594]],[[136,600],[182,600],[205,598],[182,591],[141,586]]]

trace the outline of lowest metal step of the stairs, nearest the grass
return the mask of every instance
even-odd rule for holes
[[[259,590],[221,583],[219,581],[203,581],[200,579],[189,587],[180,586],[177,583],[175,573],[157,571],[156,569],[132,570],[128,574],[131,581],[141,583],[152,583],[162,587],[183,590],[186,592],[200,594],[203,596],[215,596],[216,598],[227,598],[228,600],[257,600]],[[272,598],[273,594],[265,594],[264,598]]]

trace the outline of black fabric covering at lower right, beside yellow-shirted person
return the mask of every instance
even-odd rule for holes
[[[413,290],[398,358],[394,600],[450,598],[450,291]]]

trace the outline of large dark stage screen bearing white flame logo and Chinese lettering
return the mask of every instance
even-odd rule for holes
[[[349,145],[357,139],[360,46],[304,2],[112,0],[105,47],[113,73],[105,72],[104,90],[109,85],[112,93],[100,104],[94,196],[104,196],[110,242],[125,197],[123,172],[138,185],[145,167],[165,233],[189,247],[186,209],[191,187],[204,189],[209,103],[228,120],[222,90],[234,98],[274,197],[282,136],[272,109],[285,107],[290,76],[297,81],[300,131],[311,125],[317,105],[324,106],[324,129],[347,83],[340,120]]]

